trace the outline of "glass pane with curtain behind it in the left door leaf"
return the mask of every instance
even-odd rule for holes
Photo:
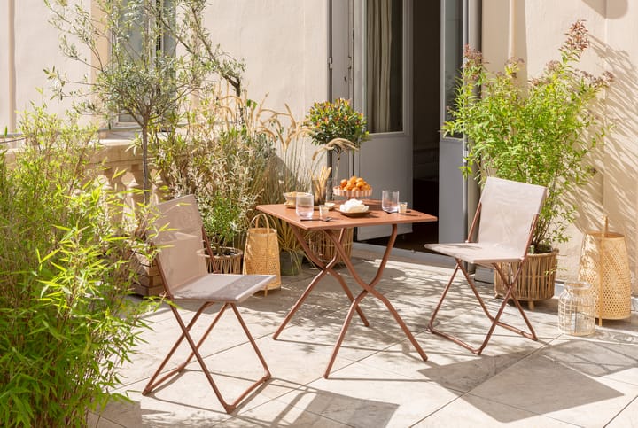
[[[371,133],[403,129],[403,2],[366,1],[366,115]]]

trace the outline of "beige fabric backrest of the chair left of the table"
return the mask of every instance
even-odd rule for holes
[[[156,206],[153,219],[157,234],[152,244],[159,248],[157,261],[170,292],[208,274],[204,257],[202,219],[193,195],[175,198]]]

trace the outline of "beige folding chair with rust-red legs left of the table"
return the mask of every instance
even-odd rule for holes
[[[237,303],[248,299],[254,292],[263,290],[264,286],[274,276],[208,273],[205,250],[208,252],[207,254],[212,253],[203,229],[197,201],[192,195],[172,199],[157,205],[155,214],[157,217],[152,220],[152,229],[154,229],[155,233],[152,237],[152,244],[159,250],[156,261],[164,283],[165,291],[163,296],[168,300],[168,307],[175,315],[175,319],[182,329],[182,334],[175,341],[175,345],[168,352],[164,361],[159,364],[159,368],[144,388],[143,394],[151,393],[153,389],[167,379],[183,371],[186,365],[195,357],[223,408],[227,413],[231,413],[246,395],[270,378],[268,365],[261,355],[253,336],[248,331],[243,318],[239,315]],[[175,306],[175,302],[180,300],[201,304],[188,325],[184,323]],[[215,303],[221,303],[222,307],[217,315],[214,316],[206,332],[196,343],[191,337],[191,330],[204,310]],[[215,385],[210,371],[206,368],[206,364],[199,354],[199,347],[204,343],[208,334],[229,307],[237,316],[237,320],[245,331],[245,335],[253,346],[254,352],[261,361],[264,370],[264,374],[260,379],[255,381],[235,401],[230,403],[223,399],[222,393]],[[156,381],[155,379],[173,356],[177,347],[182,344],[183,339],[186,339],[186,342],[191,346],[191,354],[175,370],[169,371]]]

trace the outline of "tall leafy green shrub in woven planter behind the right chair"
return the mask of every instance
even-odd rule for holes
[[[481,53],[466,47],[452,119],[442,128],[467,138],[464,175],[477,173],[481,183],[494,175],[548,189],[530,251],[549,254],[549,267],[529,259],[538,268],[532,279],[525,272],[521,276],[519,300],[554,295],[553,245],[569,239],[566,228],[576,213],[567,196],[593,175],[587,155],[609,129],[594,109],[611,74],[594,76],[576,67],[588,47],[587,28],[578,20],[559,48],[560,58],[528,82],[517,79],[522,60],[510,58],[501,73],[490,73]],[[542,278],[547,284],[539,285]]]

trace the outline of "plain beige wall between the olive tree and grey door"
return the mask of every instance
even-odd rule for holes
[[[248,96],[302,115],[328,96],[328,2],[213,0],[206,9],[212,39],[246,63]]]

